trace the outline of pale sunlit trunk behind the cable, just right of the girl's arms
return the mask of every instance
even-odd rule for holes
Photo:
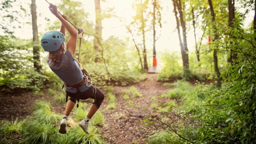
[[[102,35],[102,16],[101,16],[101,8],[100,8],[100,0],[94,0],[95,4],[95,32],[96,36],[101,38]],[[100,59],[100,39],[94,38],[93,45],[96,53],[95,62],[97,63]]]

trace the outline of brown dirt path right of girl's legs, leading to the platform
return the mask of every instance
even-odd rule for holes
[[[143,82],[135,83],[134,86],[138,92],[143,94],[142,97],[130,98],[125,101],[122,95],[122,90],[127,87],[115,86],[114,94],[117,103],[114,110],[106,110],[105,102],[102,105],[102,111],[105,117],[105,126],[101,128],[100,133],[105,135],[105,141],[111,144],[131,144],[131,143],[145,143],[145,137],[154,130],[161,129],[161,127],[147,127],[143,122],[145,113],[137,108],[131,107],[129,102],[132,101],[137,107],[144,109],[151,109],[150,103],[152,96],[159,96],[165,93],[170,87],[166,87],[162,82],[157,82],[157,74],[146,74],[147,79]],[[139,123],[142,121],[142,123]]]

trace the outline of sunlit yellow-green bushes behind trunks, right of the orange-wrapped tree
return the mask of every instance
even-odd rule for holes
[[[208,45],[203,45],[208,47]],[[208,48],[207,48],[208,49]],[[181,54],[174,52],[171,54],[163,54],[162,61],[164,66],[158,74],[157,80],[168,81],[172,79],[196,79],[199,81],[207,81],[208,79],[216,78],[213,68],[213,52],[204,52],[200,54],[200,61],[196,59],[195,53],[189,52],[189,69],[190,75],[183,75],[183,64]],[[218,63],[220,72],[228,70],[230,63],[227,63],[228,55],[225,53],[218,53]]]

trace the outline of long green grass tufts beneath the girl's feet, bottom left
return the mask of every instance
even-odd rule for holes
[[[80,122],[85,116],[86,104],[80,102],[81,107],[79,107],[75,113],[76,117],[81,119],[75,119],[76,122]],[[83,109],[82,109],[83,108]],[[80,113],[79,113],[80,111]],[[12,122],[3,121],[0,123],[0,143],[12,143],[9,137],[14,135],[20,135],[21,139],[18,143],[81,143],[81,144],[105,144],[101,139],[101,135],[98,134],[97,126],[102,126],[104,122],[104,117],[100,111],[98,111],[94,117],[91,119],[89,132],[86,134],[77,124],[70,125],[67,127],[66,134],[60,134],[58,132],[59,122],[62,115],[56,114],[51,111],[50,103],[38,101],[33,110],[31,116],[28,116],[23,121],[18,122],[18,119]],[[70,117],[72,119],[72,116]]]

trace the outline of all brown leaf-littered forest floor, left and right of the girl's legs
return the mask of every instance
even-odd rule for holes
[[[131,144],[131,143],[146,143],[146,138],[153,134],[156,130],[161,130],[164,125],[156,124],[148,126],[143,121],[144,117],[149,116],[147,113],[154,115],[161,115],[157,111],[151,111],[151,103],[166,102],[166,98],[156,98],[152,100],[153,96],[159,96],[167,92],[170,87],[164,86],[163,82],[156,81],[157,74],[146,74],[146,80],[137,82],[134,86],[138,92],[142,94],[141,97],[130,97],[129,100],[124,100],[122,90],[128,89],[129,86],[114,86],[113,93],[115,94],[116,106],[114,109],[106,109],[108,105],[107,97],[103,101],[99,110],[102,111],[105,124],[100,128],[99,133],[103,135],[103,139],[111,144]],[[104,92],[104,91],[103,91]],[[44,101],[51,101],[51,97],[47,95],[47,89],[44,90],[45,96],[35,96],[32,93],[20,93],[12,95],[0,95],[0,119],[11,120],[18,118],[24,119],[30,115],[35,104],[35,100],[41,99]],[[135,106],[131,106],[130,103]],[[52,104],[52,110],[57,113],[64,113],[65,104]],[[71,113],[72,114],[72,113]],[[182,118],[174,112],[169,112],[167,117],[168,122],[173,123]]]

